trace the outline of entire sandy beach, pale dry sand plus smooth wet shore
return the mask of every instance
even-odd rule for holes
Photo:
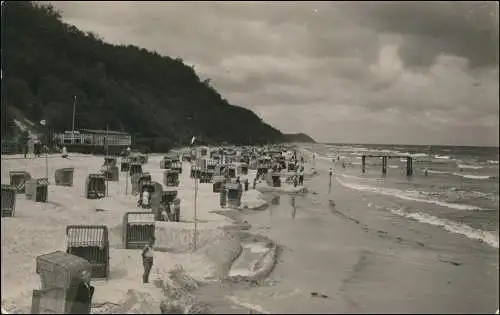
[[[498,249],[380,211],[370,193],[335,180],[329,189],[330,162],[317,159],[313,170],[303,153],[305,189],[261,183],[244,193],[238,210],[221,209],[212,186],[201,184],[196,251],[194,181],[184,163],[181,222],[157,222],[155,280],[146,285],[139,251],[120,249],[121,218],[137,209],[136,197],[125,196],[124,178],[109,183],[109,197],[85,200],[84,176],[102,157],[49,159],[50,174],[56,165],[75,167],[75,185],[51,185],[47,204],[18,195],[16,217],[2,218],[4,307],[29,311],[31,290],[39,285],[35,257],[64,248],[67,224],[100,223],[111,230],[111,276],[94,281],[93,313],[155,313],[162,301],[192,313],[495,312]],[[160,182],[159,160],[151,156],[145,170]],[[33,177],[45,172],[41,160],[3,160],[2,182],[8,170],[18,169]]]

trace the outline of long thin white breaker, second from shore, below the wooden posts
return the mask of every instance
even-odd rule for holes
[[[377,193],[377,194],[381,194],[381,195],[386,195],[386,196],[392,196],[392,197],[396,197],[396,198],[404,199],[404,200],[431,203],[431,204],[435,204],[438,206],[447,207],[447,208],[451,208],[451,209],[457,209],[457,210],[469,210],[469,211],[487,210],[487,209],[483,209],[483,208],[480,208],[477,206],[472,206],[472,205],[444,202],[444,201],[435,200],[435,199],[423,199],[423,198],[420,198],[422,196],[420,194],[420,192],[416,192],[416,191],[402,191],[402,190],[394,189],[394,188],[373,187],[373,186],[359,185],[359,184],[354,184],[354,183],[346,183],[346,182],[340,180],[339,178],[336,178],[336,180],[342,186],[350,188],[350,189],[369,191],[369,192],[373,192],[373,193]]]

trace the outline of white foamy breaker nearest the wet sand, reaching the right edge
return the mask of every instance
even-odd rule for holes
[[[425,213],[408,213],[404,212],[401,209],[389,209],[389,211],[396,215],[410,218],[421,223],[439,226],[445,231],[455,234],[461,234],[473,240],[480,240],[493,248],[498,248],[498,237],[491,232],[474,229],[466,224],[441,219]]]

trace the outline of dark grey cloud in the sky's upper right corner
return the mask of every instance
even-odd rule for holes
[[[378,32],[403,34],[405,65],[431,66],[440,54],[472,67],[498,65],[498,2],[352,2],[354,20]]]

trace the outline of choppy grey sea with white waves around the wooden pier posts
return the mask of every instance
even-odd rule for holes
[[[498,248],[498,147],[315,144],[306,149],[332,161],[339,184],[372,193],[374,207]],[[402,158],[388,159],[383,176],[381,158],[367,157],[363,174],[364,154]],[[411,177],[406,156],[413,158]]]

